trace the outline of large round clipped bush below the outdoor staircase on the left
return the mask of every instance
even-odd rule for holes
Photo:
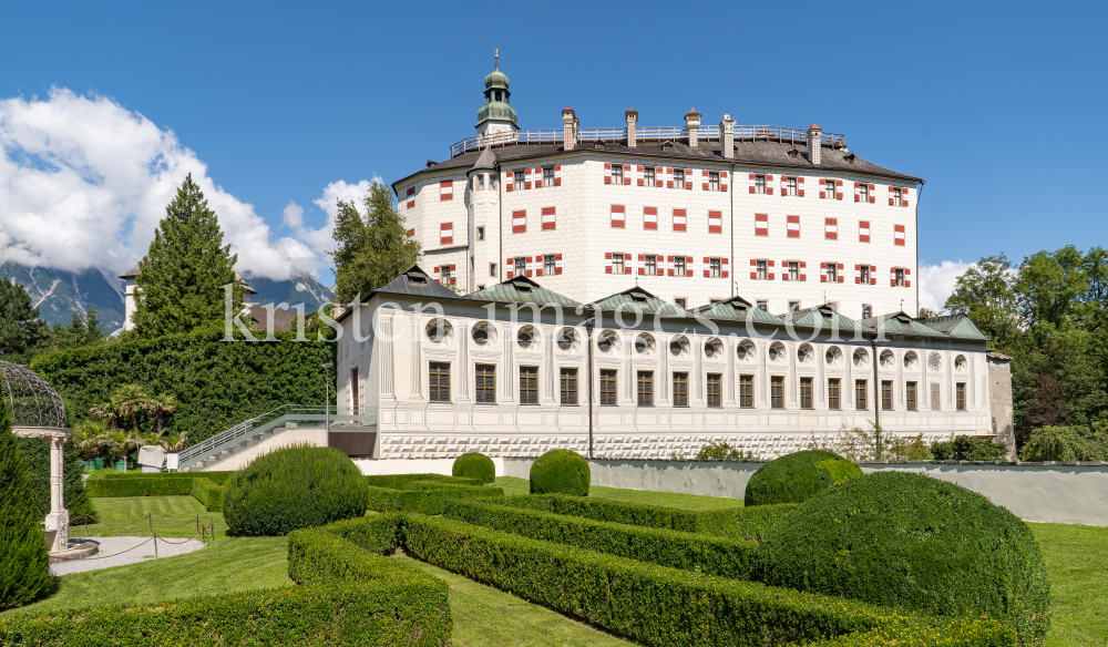
[[[334,448],[279,449],[227,480],[223,515],[230,534],[284,535],[366,514],[361,472]]]

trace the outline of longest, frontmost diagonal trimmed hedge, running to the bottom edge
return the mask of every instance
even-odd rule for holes
[[[646,645],[1015,645],[1014,633],[989,619],[951,623],[643,564],[447,518],[406,515],[404,550]]]

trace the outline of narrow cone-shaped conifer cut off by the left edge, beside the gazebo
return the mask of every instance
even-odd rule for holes
[[[11,417],[0,400],[0,610],[32,602],[54,585],[40,521]]]

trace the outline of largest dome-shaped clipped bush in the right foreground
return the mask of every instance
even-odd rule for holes
[[[766,584],[945,616],[986,615],[1040,645],[1050,589],[1038,545],[1007,510],[904,472],[851,479],[762,535]]]

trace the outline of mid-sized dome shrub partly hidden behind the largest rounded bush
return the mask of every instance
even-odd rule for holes
[[[796,452],[758,468],[747,482],[743,503],[748,506],[802,503],[835,483],[861,475],[858,465],[834,452]]]

